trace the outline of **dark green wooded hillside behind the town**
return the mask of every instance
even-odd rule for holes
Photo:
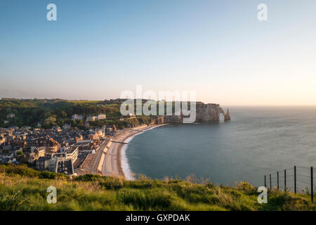
[[[62,99],[17,99],[2,98],[0,100],[0,127],[16,125],[18,127],[37,127],[41,123],[43,128],[51,128],[64,124],[72,127],[84,128],[84,121],[71,120],[72,115],[98,115],[105,113],[107,120],[90,122],[92,127],[116,124],[118,128],[129,127],[150,122],[150,117],[141,116],[135,120],[121,121],[120,105],[126,99],[111,99],[105,101],[67,101]],[[15,117],[6,115],[14,113]],[[7,121],[7,123],[5,123]]]

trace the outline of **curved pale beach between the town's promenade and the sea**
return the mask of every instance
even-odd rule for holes
[[[133,176],[131,175],[127,158],[125,157],[125,155],[124,157],[122,157],[122,150],[126,150],[127,148],[125,143],[131,141],[131,139],[133,139],[133,136],[141,134],[142,132],[148,131],[150,129],[162,127],[165,125],[167,124],[150,125],[146,127],[139,126],[133,129],[121,131],[120,134],[114,137],[113,141],[119,141],[124,143],[112,143],[110,148],[107,150],[107,154],[105,155],[103,163],[103,174],[105,176],[117,176],[124,179],[132,180]]]

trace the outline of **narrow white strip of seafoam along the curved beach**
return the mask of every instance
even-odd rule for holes
[[[157,126],[154,126],[154,127],[150,127],[148,129],[143,129],[142,131],[143,132],[149,131],[150,129],[154,129],[154,128],[157,128],[157,127],[162,127],[162,126],[165,126],[165,125],[167,125],[167,124],[157,125]],[[133,134],[132,136],[129,136],[124,142],[125,143],[129,143],[135,136],[137,136],[138,134],[142,134],[143,132],[138,132],[136,134]],[[124,145],[121,148],[121,169],[123,170],[125,179],[127,179],[127,180],[134,180],[135,176],[133,175],[133,172],[131,171],[131,167],[129,166],[129,159],[126,156],[126,150],[127,150],[128,147],[129,147],[129,145]]]

